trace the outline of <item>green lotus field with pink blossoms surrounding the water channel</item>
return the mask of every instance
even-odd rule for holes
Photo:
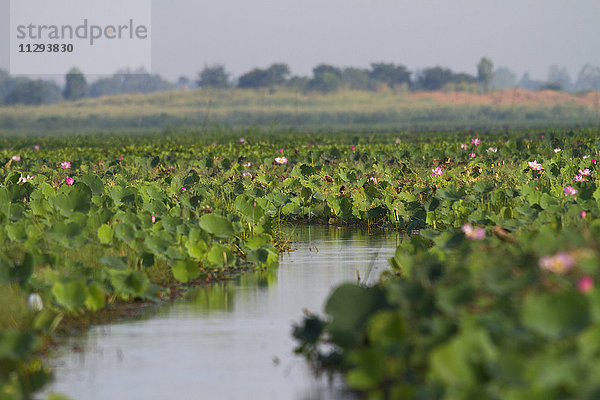
[[[294,327],[318,370],[370,398],[598,398],[598,138],[0,141],[0,398],[51,379],[57,331],[276,268],[293,223],[404,233],[378,284]]]

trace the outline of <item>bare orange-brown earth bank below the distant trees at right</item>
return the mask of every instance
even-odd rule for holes
[[[502,90],[486,94],[464,92],[418,92],[413,93],[415,99],[430,98],[441,103],[477,104],[477,105],[538,105],[555,106],[557,104],[575,104],[589,108],[600,106],[600,93],[582,94],[542,90],[532,92],[523,89]]]

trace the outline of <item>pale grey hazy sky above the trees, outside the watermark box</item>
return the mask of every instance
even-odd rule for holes
[[[0,0],[3,69],[7,7]],[[152,0],[152,70],[196,78],[220,63],[239,76],[285,62],[309,75],[321,62],[385,61],[475,73],[485,55],[519,76],[545,79],[558,64],[575,78],[600,65],[599,17],[598,0]]]

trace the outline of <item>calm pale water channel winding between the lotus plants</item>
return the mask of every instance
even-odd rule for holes
[[[377,279],[393,234],[297,227],[277,270],[202,288],[143,320],[97,326],[50,361],[48,392],[79,399],[347,399],[293,354],[292,323],[331,289]],[[370,272],[369,272],[370,270]],[[77,351],[74,351],[77,350]]]

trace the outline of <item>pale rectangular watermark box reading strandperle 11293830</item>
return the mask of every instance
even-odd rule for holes
[[[11,74],[151,70],[150,0],[11,0]]]

